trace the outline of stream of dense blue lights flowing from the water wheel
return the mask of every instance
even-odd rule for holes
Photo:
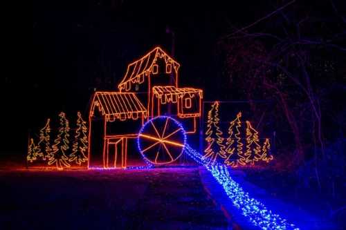
[[[294,224],[290,224],[280,215],[268,210],[264,204],[251,198],[248,193],[244,192],[242,187],[239,186],[229,175],[228,169],[222,164],[209,164],[208,161],[203,159],[203,156],[191,148],[188,144],[185,146],[185,153],[187,153],[197,163],[206,166],[206,169],[212,173],[212,176],[221,184],[228,198],[233,202],[233,205],[242,211],[255,226],[261,229],[294,229]]]

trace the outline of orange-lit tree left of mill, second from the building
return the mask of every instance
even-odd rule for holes
[[[60,113],[60,128],[57,138],[54,140],[53,151],[49,157],[48,164],[56,164],[57,169],[62,169],[63,166],[69,167],[67,162],[69,157],[66,157],[65,153],[69,149],[69,121],[65,117],[65,113]]]

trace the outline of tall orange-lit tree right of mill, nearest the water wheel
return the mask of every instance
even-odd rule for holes
[[[222,131],[219,128],[219,121],[219,102],[214,102],[208,112],[206,131],[207,148],[204,150],[206,154],[203,156],[204,159],[208,158],[212,164],[215,163],[217,157],[226,158],[225,146],[222,144],[224,138],[221,137]]]

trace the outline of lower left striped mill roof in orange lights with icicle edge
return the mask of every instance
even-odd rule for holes
[[[147,116],[147,110],[134,93],[96,92],[91,104],[91,115],[96,106],[107,122]]]

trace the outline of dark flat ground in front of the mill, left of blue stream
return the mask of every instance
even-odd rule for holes
[[[197,167],[0,171],[2,229],[227,229]]]

